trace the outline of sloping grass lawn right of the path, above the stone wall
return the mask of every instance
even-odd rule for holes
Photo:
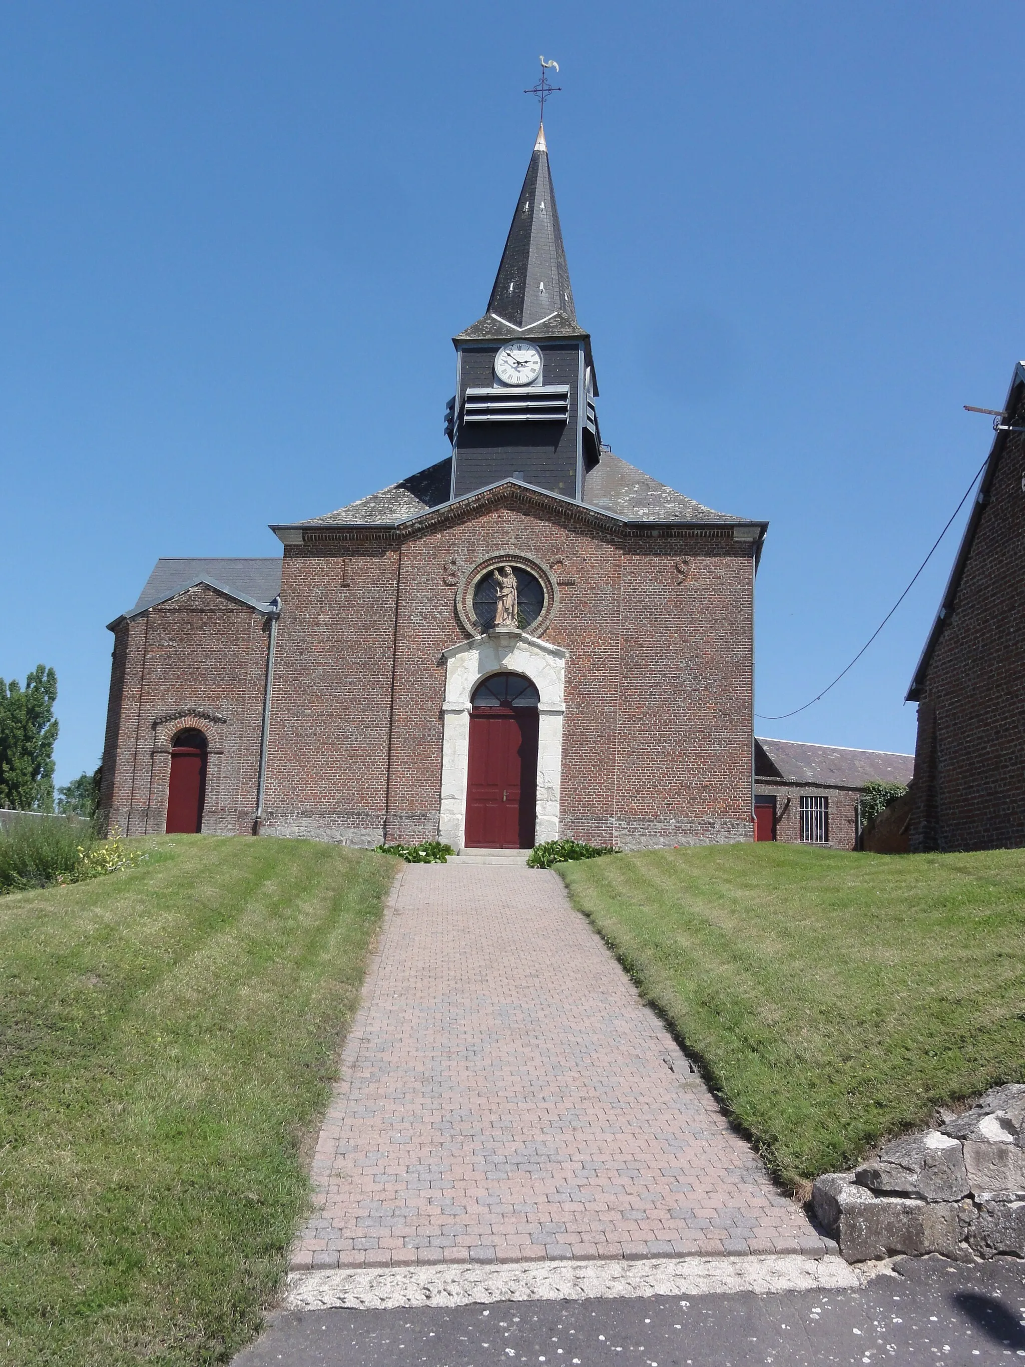
[[[787,1185],[1025,1081],[1025,850],[765,842],[558,871]]]

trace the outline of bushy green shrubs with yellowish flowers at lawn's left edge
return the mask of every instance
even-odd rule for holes
[[[0,830],[0,893],[81,883],[145,857],[128,850],[116,831],[101,841],[89,822],[74,816],[20,816]]]

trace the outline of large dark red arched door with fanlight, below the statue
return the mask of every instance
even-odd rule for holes
[[[466,845],[530,849],[537,812],[537,704],[522,674],[492,674],[473,693]]]

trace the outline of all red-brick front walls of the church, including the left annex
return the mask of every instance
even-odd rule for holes
[[[749,841],[754,543],[731,528],[630,536],[528,495],[474,500],[402,537],[323,529],[286,547],[262,830],[436,837],[440,655],[466,636],[459,578],[493,554],[558,578],[544,638],[569,652],[562,834]],[[104,772],[123,830],[163,830],[169,753],[154,719],[197,707],[224,718],[202,723],[220,752],[204,828],[250,828],[265,663],[262,619],[208,589],[118,627]]]

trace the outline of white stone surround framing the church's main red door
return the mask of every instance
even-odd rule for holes
[[[559,838],[562,719],[566,712],[566,651],[523,632],[496,627],[441,652],[446,662],[441,819],[439,839],[463,848],[470,763],[470,699],[489,674],[523,674],[541,699],[537,712],[537,843]]]

